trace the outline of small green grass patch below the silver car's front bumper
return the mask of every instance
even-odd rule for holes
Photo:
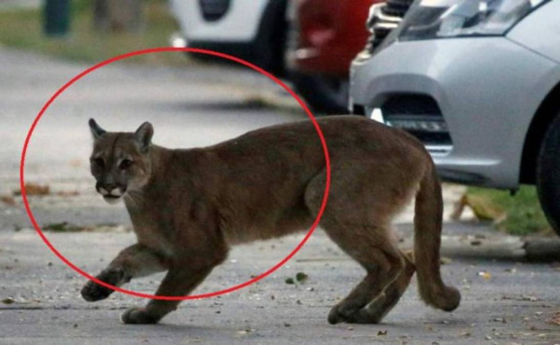
[[[550,234],[552,229],[540,208],[536,188],[521,186],[515,196],[505,190],[469,187],[467,196],[483,200],[489,207],[501,209],[505,218],[496,223],[497,229],[512,235]]]

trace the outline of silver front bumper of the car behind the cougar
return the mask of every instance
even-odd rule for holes
[[[432,99],[450,137],[426,143],[442,178],[516,189],[525,136],[555,67],[505,37],[396,41],[353,61],[351,108],[370,116],[395,96]]]

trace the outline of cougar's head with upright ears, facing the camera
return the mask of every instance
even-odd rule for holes
[[[144,122],[136,132],[106,132],[90,119],[94,150],[90,157],[95,189],[108,203],[138,190],[150,179],[150,142],[153,127]]]

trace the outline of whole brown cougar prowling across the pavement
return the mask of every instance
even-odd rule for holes
[[[454,310],[460,293],[440,274],[441,186],[422,143],[359,116],[329,116],[318,124],[332,178],[320,226],[366,271],[328,321],[379,323],[415,271],[426,304]],[[231,246],[309,229],[320,210],[326,163],[310,120],[190,149],[152,144],[148,122],[136,132],[106,132],[93,119],[89,125],[95,188],[107,202],[123,199],[137,237],[96,276],[113,286],[166,271],[156,295],[186,296]],[[399,250],[391,232],[391,221],[412,197],[413,255]],[[81,290],[87,301],[112,292],[93,281]],[[157,323],[178,304],[150,300],[125,311],[122,320]]]

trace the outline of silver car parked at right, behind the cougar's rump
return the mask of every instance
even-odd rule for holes
[[[354,59],[349,108],[421,139],[445,180],[536,184],[560,231],[560,0],[417,0]]]

